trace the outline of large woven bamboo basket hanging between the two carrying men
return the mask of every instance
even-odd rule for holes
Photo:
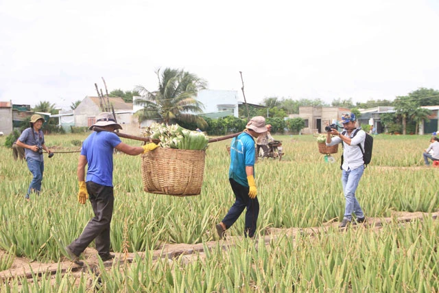
[[[156,148],[142,154],[143,189],[150,194],[197,196],[204,176],[204,150]]]

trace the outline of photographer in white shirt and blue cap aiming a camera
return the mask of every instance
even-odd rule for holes
[[[327,131],[327,145],[332,146],[337,143],[343,143],[343,155],[342,155],[342,185],[344,198],[346,204],[344,207],[344,217],[339,227],[344,228],[352,222],[352,214],[355,213],[357,219],[353,224],[362,223],[366,221],[363,211],[359,206],[357,198],[355,198],[355,191],[357,190],[359,180],[364,172],[363,152],[364,141],[366,139],[366,132],[364,130],[355,130],[356,119],[355,114],[346,113],[342,114],[342,121],[344,130],[338,132],[337,126],[332,124],[326,126],[324,129]],[[334,137],[332,137],[334,136]],[[359,148],[358,144],[361,145]]]

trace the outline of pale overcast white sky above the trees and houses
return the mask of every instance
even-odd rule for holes
[[[437,0],[0,0],[0,101],[69,109],[158,89],[184,69],[209,89],[366,102],[439,90]]]

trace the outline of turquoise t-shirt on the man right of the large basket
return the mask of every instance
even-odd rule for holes
[[[235,137],[230,144],[228,178],[248,187],[246,166],[254,166],[255,154],[254,139],[250,134],[244,132]]]

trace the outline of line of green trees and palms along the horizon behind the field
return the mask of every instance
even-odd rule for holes
[[[132,103],[134,96],[139,96],[136,104],[143,106],[135,115],[139,121],[154,119],[167,124],[178,123],[185,128],[211,130],[211,134],[224,134],[223,132],[234,132],[241,129],[247,117],[263,116],[269,124],[272,124],[275,132],[283,132],[288,129],[293,132],[300,131],[305,126],[305,121],[300,118],[287,119],[289,115],[298,114],[300,106],[316,107],[343,107],[350,108],[354,113],[359,114],[361,108],[373,108],[377,106],[393,106],[395,113],[388,113],[381,117],[381,123],[388,132],[417,133],[418,125],[425,121],[431,111],[420,108],[420,106],[439,105],[439,91],[434,89],[419,88],[405,96],[398,96],[393,101],[387,99],[369,99],[367,102],[357,102],[353,99],[335,98],[331,104],[322,99],[298,99],[284,97],[265,97],[261,107],[248,105],[239,108],[239,117],[225,117],[222,119],[209,119],[202,116],[203,105],[196,99],[198,91],[207,89],[206,80],[199,78],[193,73],[182,69],[158,69],[156,71],[158,84],[154,89],[147,86],[135,86],[132,91],[115,89],[110,92],[112,97],[122,97],[125,102]],[[71,104],[75,109],[80,100]],[[58,113],[55,104],[40,102],[34,111],[51,114]],[[245,125],[244,125],[245,126]],[[243,128],[242,128],[243,129]],[[241,130],[242,130],[241,129]]]

